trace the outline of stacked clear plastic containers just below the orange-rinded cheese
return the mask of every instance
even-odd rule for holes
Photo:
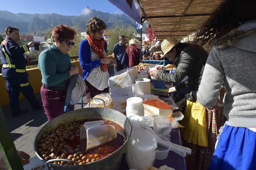
[[[153,122],[153,130],[157,135],[169,137],[171,121],[165,117],[156,117]]]

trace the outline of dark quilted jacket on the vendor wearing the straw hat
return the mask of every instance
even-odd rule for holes
[[[187,76],[183,83],[175,87],[176,90],[179,91],[189,88],[190,91],[197,91],[202,79],[208,53],[198,45],[180,44],[182,48],[176,51],[176,72],[164,73],[163,71],[159,71],[157,78],[165,82],[180,82]]]

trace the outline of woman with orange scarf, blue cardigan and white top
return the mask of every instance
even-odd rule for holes
[[[109,92],[109,72],[107,64],[112,59],[107,58],[107,42],[102,37],[107,28],[105,22],[93,17],[87,24],[87,39],[80,42],[79,61],[85,80],[85,95],[89,101],[99,93]]]

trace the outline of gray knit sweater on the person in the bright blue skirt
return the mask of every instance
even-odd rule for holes
[[[248,28],[251,25],[254,29]],[[197,92],[199,103],[212,107],[224,84],[229,126],[256,128],[256,23],[251,25],[244,24],[215,42]]]

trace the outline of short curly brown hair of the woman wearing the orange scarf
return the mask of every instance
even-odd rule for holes
[[[107,28],[107,25],[103,20],[101,20],[99,17],[93,17],[88,21],[87,27],[87,35],[92,35],[96,32],[99,32],[103,29]]]

